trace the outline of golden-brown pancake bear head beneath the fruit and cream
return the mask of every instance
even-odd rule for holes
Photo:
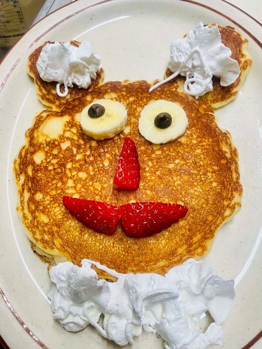
[[[35,63],[40,50],[29,57],[28,67],[40,100],[50,102],[56,110],[36,115],[14,162],[18,210],[37,251],[78,265],[82,258],[89,258],[120,273],[164,274],[189,257],[203,256],[216,230],[241,206],[237,150],[230,134],[216,125],[211,108],[214,101],[222,103],[231,98],[232,86],[215,85],[213,94],[196,100],[181,92],[180,78],[150,94],[151,84],[146,81],[101,84],[99,75],[92,89],[73,88],[69,98],[62,99],[55,95],[55,83],[41,81],[38,76]],[[240,52],[234,58],[240,62],[241,57]],[[240,68],[242,76],[245,69]],[[238,83],[234,84],[235,90]],[[121,102],[127,110],[127,126],[110,140],[90,139],[79,123],[81,110],[97,99]],[[153,145],[140,135],[138,118],[148,103],[159,99],[178,103],[189,125],[181,138]],[[136,144],[141,167],[140,186],[135,192],[113,189],[126,136]],[[107,236],[79,223],[63,206],[64,195],[116,206],[136,201],[179,203],[188,207],[188,213],[151,237],[129,238],[120,225],[114,235]],[[101,271],[100,276],[104,276]]]

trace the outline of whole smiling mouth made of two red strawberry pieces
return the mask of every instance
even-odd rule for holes
[[[124,234],[143,238],[160,233],[182,219],[186,206],[162,202],[134,202],[116,207],[105,202],[63,197],[68,211],[86,227],[113,235],[121,221]]]

